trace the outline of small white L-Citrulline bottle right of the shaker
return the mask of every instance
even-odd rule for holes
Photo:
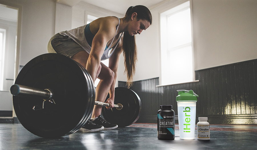
[[[198,117],[197,123],[197,139],[210,140],[210,123],[207,122],[208,117]]]

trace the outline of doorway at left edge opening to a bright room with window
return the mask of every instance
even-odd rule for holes
[[[9,89],[19,71],[20,33],[21,6],[0,1],[0,117],[13,116]]]

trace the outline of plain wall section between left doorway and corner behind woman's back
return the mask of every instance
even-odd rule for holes
[[[55,29],[55,3],[51,0],[12,1],[22,5],[20,65],[47,53],[47,43]]]

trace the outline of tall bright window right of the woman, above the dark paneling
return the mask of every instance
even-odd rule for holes
[[[193,81],[190,3],[160,14],[161,84]]]

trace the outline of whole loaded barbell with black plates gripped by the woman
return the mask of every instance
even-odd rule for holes
[[[78,131],[91,116],[95,87],[87,70],[61,54],[49,53],[30,60],[10,88],[13,107],[20,123],[31,133],[46,138],[61,137]],[[109,94],[106,100],[109,98]],[[132,90],[115,88],[117,104],[102,108],[106,121],[125,127],[140,116],[141,101]]]

